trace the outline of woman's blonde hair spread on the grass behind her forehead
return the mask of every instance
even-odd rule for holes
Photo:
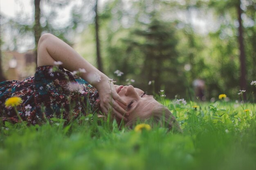
[[[182,133],[182,129],[171,111],[162,104],[156,105],[150,113],[144,115],[146,116],[139,117],[141,121],[149,121],[152,126],[159,125],[170,131]],[[137,120],[128,121],[126,126],[132,127],[136,122]]]

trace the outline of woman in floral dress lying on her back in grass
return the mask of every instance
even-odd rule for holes
[[[41,36],[37,64],[33,77],[0,83],[0,115],[4,121],[18,122],[15,109],[29,124],[41,124],[45,117],[54,116],[70,121],[81,113],[97,112],[112,113],[128,126],[137,119],[152,118],[180,131],[175,117],[153,96],[133,86],[114,85],[112,79],[54,35]],[[10,97],[20,97],[21,104],[17,108],[6,106]]]

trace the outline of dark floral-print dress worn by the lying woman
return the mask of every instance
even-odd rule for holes
[[[52,117],[70,121],[100,111],[97,89],[61,66],[39,66],[33,77],[0,83],[0,117],[18,122],[15,108],[4,104],[10,97],[22,99],[16,109],[29,124],[42,124]]]

